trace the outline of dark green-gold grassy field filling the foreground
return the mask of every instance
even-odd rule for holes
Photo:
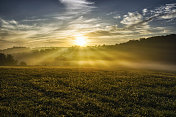
[[[0,116],[176,116],[176,72],[1,67]]]

